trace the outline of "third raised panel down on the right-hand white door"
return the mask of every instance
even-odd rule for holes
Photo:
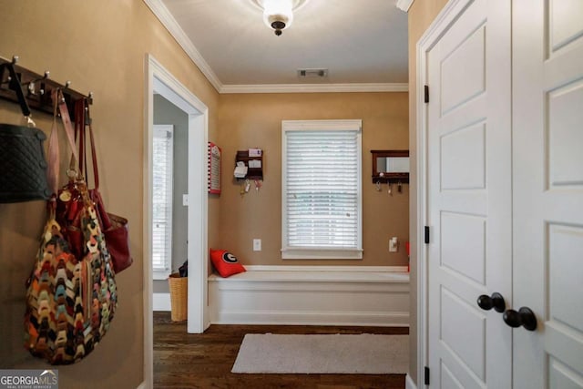
[[[583,281],[583,227],[551,224],[548,234],[550,319],[567,324],[583,336],[583,299],[573,298],[573,293],[581,291]]]

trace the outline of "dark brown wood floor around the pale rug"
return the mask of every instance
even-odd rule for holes
[[[211,325],[202,334],[186,332],[186,322],[154,312],[156,388],[318,388],[403,389],[404,374],[232,374],[246,333],[403,334],[407,328],[314,327],[298,325]]]

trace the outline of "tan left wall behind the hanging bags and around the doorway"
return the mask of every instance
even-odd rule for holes
[[[143,380],[142,192],[144,57],[151,53],[210,108],[215,137],[219,95],[139,0],[103,2],[0,1],[0,56],[74,89],[95,93],[92,107],[101,191],[109,210],[130,221],[135,262],[118,276],[112,326],[87,359],[60,366],[61,388],[136,388]],[[50,118],[35,113],[48,131]],[[16,105],[0,101],[0,122],[20,122]],[[2,172],[4,174],[4,172]],[[210,244],[218,231],[218,201],[210,199]],[[45,218],[42,201],[0,204],[1,368],[45,368],[23,347],[25,281],[35,261]]]

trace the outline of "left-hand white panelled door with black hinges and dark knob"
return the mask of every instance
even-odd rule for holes
[[[511,297],[511,6],[467,3],[427,53],[427,355],[431,387],[502,389],[512,332],[476,300]]]

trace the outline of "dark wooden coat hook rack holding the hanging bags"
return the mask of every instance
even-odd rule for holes
[[[29,107],[52,115],[51,92],[59,88],[63,91],[71,118],[75,114],[75,101],[79,98],[87,98],[89,104],[93,104],[93,92],[90,92],[88,96],[83,95],[71,89],[71,81],[66,81],[65,85],[59,84],[50,78],[48,70],[41,76],[26,67],[19,66],[18,60],[18,56],[13,56],[12,60],[0,57],[0,98],[18,103],[16,88],[20,87]],[[17,80],[11,77],[8,66],[14,67]]]

